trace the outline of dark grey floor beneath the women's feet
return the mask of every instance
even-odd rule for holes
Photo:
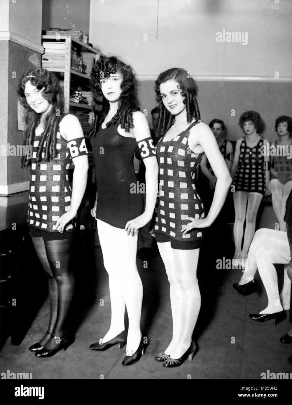
[[[273,211],[265,214],[271,215],[265,215],[267,220],[261,222],[260,227],[271,228],[275,223]],[[232,258],[233,243],[228,235],[225,238],[220,247],[221,258]],[[286,320],[277,326],[273,326],[273,320],[261,324],[249,319],[249,313],[258,313],[267,305],[262,284],[260,282],[260,293],[239,295],[232,284],[238,282],[241,271],[217,270],[218,257],[206,246],[201,249],[198,279],[202,307],[194,333],[199,351],[192,362],[165,369],[154,360],[155,354],[165,349],[172,334],[169,285],[158,253],[148,260],[146,269],[142,260],[137,259],[144,286],[141,324],[144,336],[148,336],[146,354],[133,366],[122,367],[125,352],[118,350],[118,346],[105,352],[88,349],[90,343],[105,335],[110,324],[107,274],[101,249],[96,247],[92,257],[87,256],[75,274],[79,305],[74,307],[74,343],[67,351],[62,350],[51,358],[37,358],[28,350],[47,330],[49,305],[45,301],[21,345],[13,346],[10,338],[7,339],[0,354],[1,372],[29,372],[35,379],[260,379],[260,374],[268,370],[291,372],[287,362],[291,345],[279,342],[291,329],[289,312]],[[258,273],[256,278],[260,281]]]

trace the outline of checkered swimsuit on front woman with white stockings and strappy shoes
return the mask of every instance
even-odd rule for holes
[[[201,229],[181,232],[182,226],[189,223],[185,218],[204,218],[204,206],[195,188],[195,172],[204,153],[194,153],[188,146],[190,129],[198,122],[171,141],[161,138],[156,145],[160,195],[154,230],[177,241],[202,239]]]

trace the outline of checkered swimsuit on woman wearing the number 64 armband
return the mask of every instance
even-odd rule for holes
[[[68,171],[72,158],[67,141],[62,138],[58,128],[57,158],[55,161],[36,162],[36,152],[41,136],[41,134],[36,135],[32,145],[28,224],[40,230],[58,232],[55,224],[65,212],[69,211],[71,205],[72,188],[69,184]],[[45,144],[46,141],[44,148]],[[42,158],[44,157],[43,152]],[[74,219],[68,222],[64,231],[73,231],[75,225]]]

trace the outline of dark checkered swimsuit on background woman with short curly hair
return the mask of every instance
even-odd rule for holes
[[[264,138],[260,138],[254,147],[247,146],[246,138],[240,145],[238,168],[234,177],[235,191],[265,193],[266,177],[264,155],[261,155],[261,147]]]

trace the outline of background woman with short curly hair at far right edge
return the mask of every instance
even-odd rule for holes
[[[272,193],[275,214],[280,224],[280,230],[286,228],[283,220],[288,195],[292,189],[292,118],[286,115],[276,119],[275,130],[278,139],[272,143],[276,155],[272,156],[271,181],[268,185]],[[271,149],[272,151],[272,149]]]

